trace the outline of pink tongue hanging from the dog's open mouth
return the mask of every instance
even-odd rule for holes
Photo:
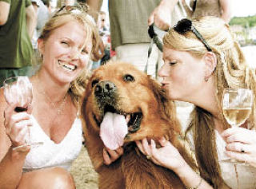
[[[121,147],[127,133],[128,127],[125,116],[106,112],[100,126],[100,136],[105,146],[110,150]]]

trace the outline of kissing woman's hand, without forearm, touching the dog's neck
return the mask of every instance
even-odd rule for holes
[[[152,159],[154,163],[162,167],[169,168],[176,172],[186,164],[177,148],[175,148],[170,141],[161,138],[158,142],[161,144],[161,148],[156,148],[154,140],[150,140],[149,144],[146,139],[143,139],[142,141],[136,141],[136,144],[139,150],[147,156],[148,159]]]

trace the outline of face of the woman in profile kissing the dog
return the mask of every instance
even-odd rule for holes
[[[158,75],[162,77],[162,88],[172,100],[193,101],[204,84],[206,67],[201,58],[186,51],[163,48],[164,65]]]

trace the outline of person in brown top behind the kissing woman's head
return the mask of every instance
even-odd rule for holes
[[[188,18],[215,16],[222,18],[227,24],[232,14],[230,3],[230,0],[190,0],[188,6],[186,0],[182,0]]]

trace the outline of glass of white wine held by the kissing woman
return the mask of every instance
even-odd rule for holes
[[[250,116],[253,104],[253,93],[250,89],[224,89],[222,99],[222,110],[224,117],[231,127],[239,127],[244,124]],[[240,163],[234,159],[233,163]]]

